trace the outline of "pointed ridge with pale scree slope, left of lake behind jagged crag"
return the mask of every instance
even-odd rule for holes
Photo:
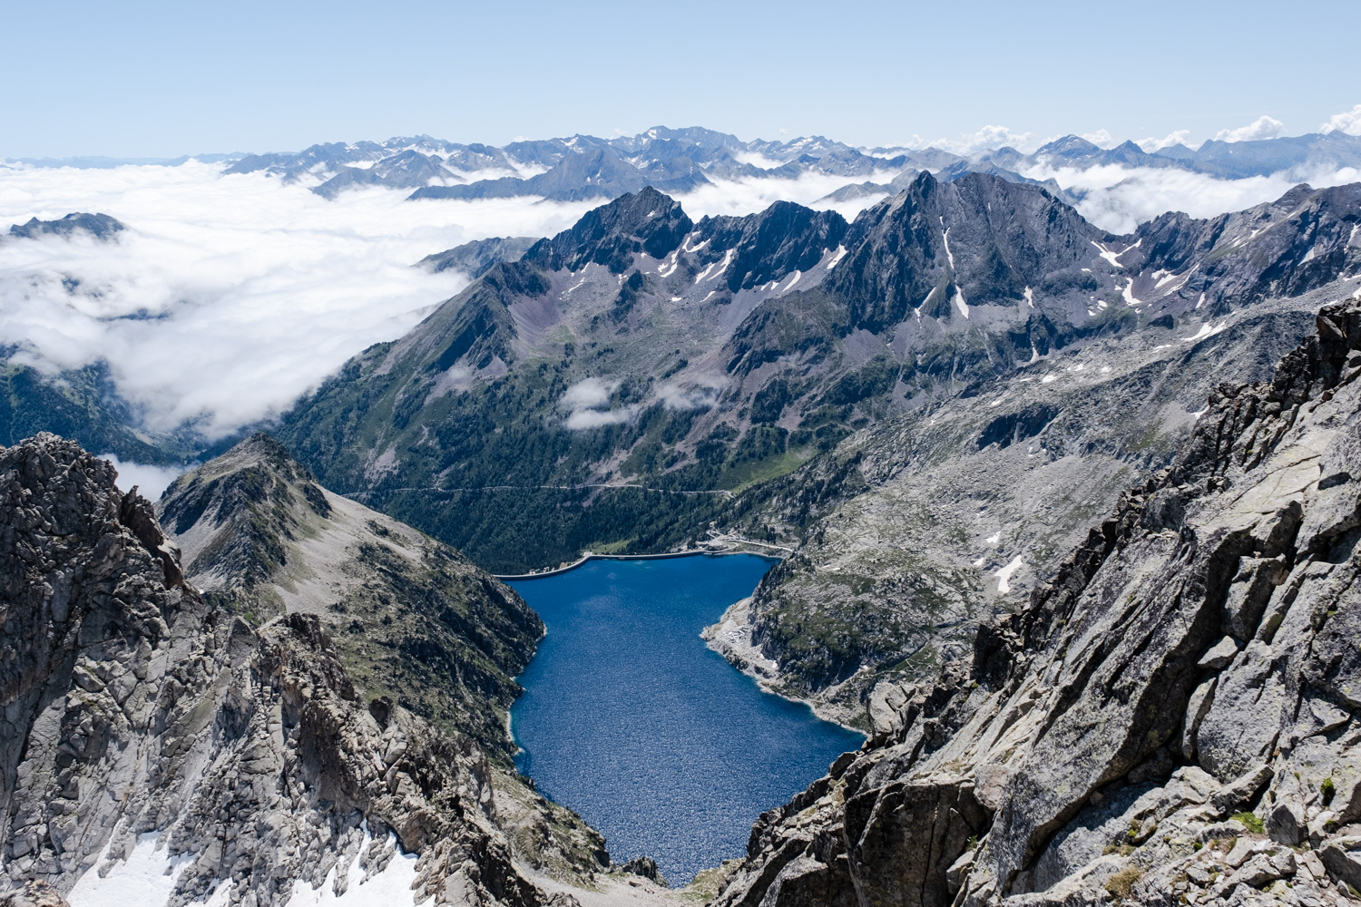
[[[543,621],[463,555],[313,481],[257,434],[157,503],[206,598],[255,624],[314,615],[357,685],[509,764],[506,710]]]

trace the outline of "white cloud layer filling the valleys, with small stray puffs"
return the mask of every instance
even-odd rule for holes
[[[1361,129],[1361,107],[1334,120],[1332,128]],[[1010,135],[988,128],[969,141]],[[1356,170],[1251,179],[1124,167],[1026,175],[1083,193],[1079,211],[1113,233],[1170,209],[1203,218],[1247,208],[1297,182],[1361,179]],[[855,218],[882,199],[821,201],[848,182],[823,174],[727,181],[679,201],[698,220],[777,200]],[[465,286],[456,272],[414,268],[425,256],[485,237],[553,235],[593,207],[532,197],[410,203],[408,192],[385,188],[328,201],[309,189],[196,160],[99,170],[0,163],[0,234],[10,223],[75,211],[128,226],[114,242],[0,235],[0,345],[49,374],[103,360],[146,428],[191,424],[216,439],[284,412],[346,359],[400,337]],[[570,420],[618,419],[581,390]]]

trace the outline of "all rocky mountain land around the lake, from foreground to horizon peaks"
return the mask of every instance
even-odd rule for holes
[[[661,128],[214,162],[585,213],[430,249],[464,288],[225,434],[5,348],[0,904],[1354,903],[1361,184],[1111,233],[1057,177],[1358,163]],[[95,454],[184,472],[152,502]],[[694,645],[867,740],[668,889],[517,774],[546,628],[497,577],[694,551],[780,559]]]

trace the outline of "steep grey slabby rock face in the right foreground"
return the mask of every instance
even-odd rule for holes
[[[1361,302],[1221,385],[939,681],[753,831],[728,906],[1350,902],[1361,866]]]

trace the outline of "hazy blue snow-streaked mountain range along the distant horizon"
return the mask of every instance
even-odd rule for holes
[[[20,163],[44,167],[174,166],[189,159],[24,158]],[[700,126],[655,126],[636,136],[577,135],[512,141],[502,147],[414,136],[352,144],[333,141],[299,152],[199,155],[196,159],[222,162],[229,174],[265,173],[286,182],[310,182],[313,192],[327,199],[351,188],[381,185],[410,189],[412,200],[538,196],[555,201],[608,201],[645,186],[685,194],[720,181],[821,174],[847,178],[844,186],[823,199],[834,203],[896,194],[925,170],[943,182],[985,173],[1011,182],[1044,185],[1075,204],[1082,196],[1060,185],[1063,170],[1176,169],[1221,179],[1288,173],[1307,181],[1311,174],[1361,167],[1361,136],[1335,131],[1252,141],[1207,140],[1199,148],[1175,144],[1145,151],[1134,141],[1102,148],[1068,135],[1033,152],[1003,146],[961,155],[935,147],[856,148],[823,136],[744,141]]]

